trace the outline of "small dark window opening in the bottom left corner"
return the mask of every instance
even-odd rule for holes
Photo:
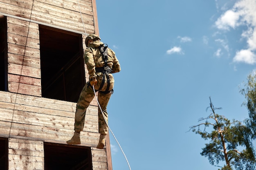
[[[0,137],[0,170],[7,170],[8,167],[8,140]]]

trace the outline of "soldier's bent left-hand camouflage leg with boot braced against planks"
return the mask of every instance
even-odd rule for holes
[[[85,122],[85,113],[90,102],[94,97],[94,92],[88,83],[85,84],[83,90],[80,93],[78,102],[76,104],[75,123],[74,123],[74,136],[67,141],[67,144],[81,144],[80,131],[83,130]]]

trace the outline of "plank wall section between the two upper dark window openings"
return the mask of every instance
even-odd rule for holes
[[[8,91],[42,96],[38,24],[7,17],[7,43]]]

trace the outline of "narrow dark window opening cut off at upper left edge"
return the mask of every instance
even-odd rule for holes
[[[0,15],[0,91],[7,91],[7,18]]]

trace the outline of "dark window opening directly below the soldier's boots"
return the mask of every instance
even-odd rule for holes
[[[90,147],[44,143],[45,170],[92,170]]]

